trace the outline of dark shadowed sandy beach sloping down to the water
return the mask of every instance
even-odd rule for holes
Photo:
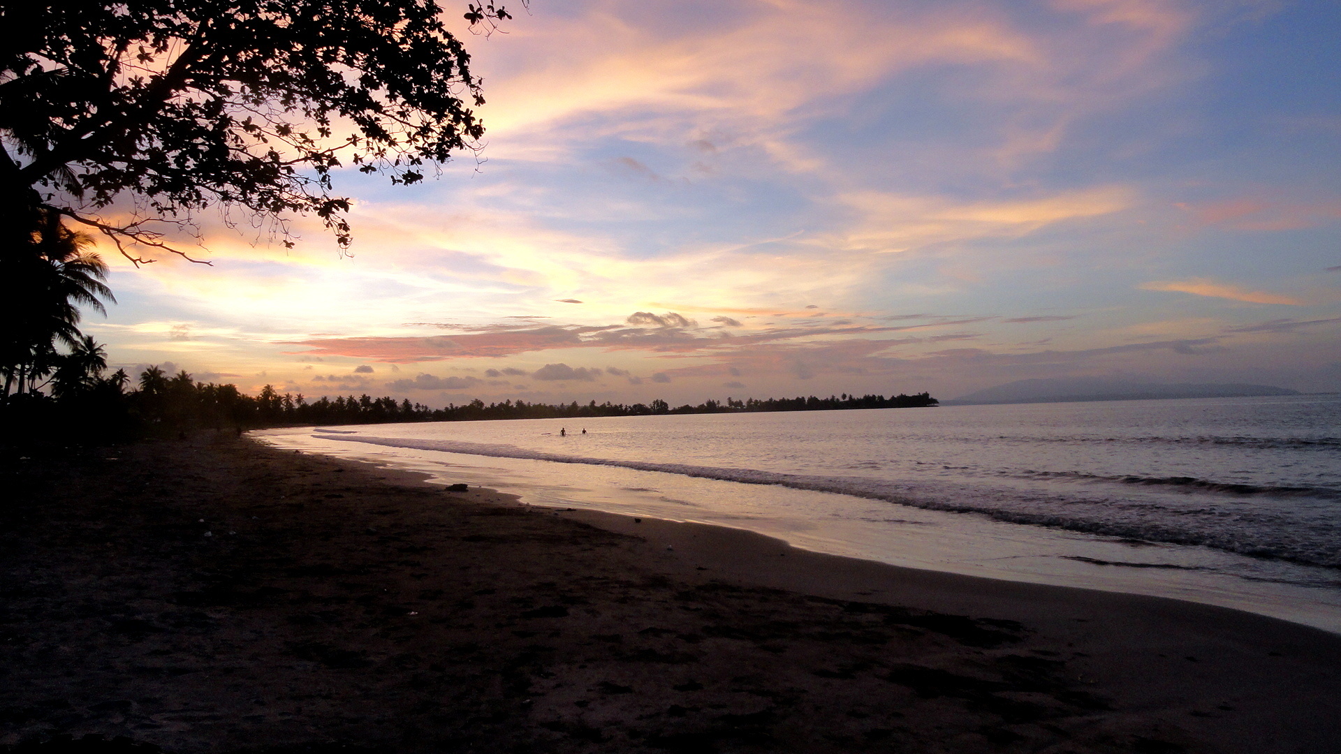
[[[1235,610],[247,440],[0,464],[0,745],[1341,751],[1341,637]]]

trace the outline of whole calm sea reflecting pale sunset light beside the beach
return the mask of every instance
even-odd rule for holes
[[[530,504],[732,526],[825,553],[1341,632],[1341,396],[257,435]]]

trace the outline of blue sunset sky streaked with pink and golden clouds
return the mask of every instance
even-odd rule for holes
[[[512,9],[463,31],[479,157],[337,176],[350,255],[302,219],[105,250],[113,366],[430,407],[1341,390],[1341,4]]]

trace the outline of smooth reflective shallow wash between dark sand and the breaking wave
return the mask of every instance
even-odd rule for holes
[[[304,435],[308,435],[308,432],[300,431],[298,436]],[[559,475],[565,482],[554,484],[552,488],[536,487],[536,484],[548,484],[544,479],[547,479],[546,474],[551,472],[551,470],[526,468],[524,466],[512,468],[508,464],[548,466],[552,462],[410,448],[412,452],[420,455],[445,455],[452,459],[451,464],[439,464],[422,457],[406,456],[404,455],[405,448],[396,445],[393,448],[401,455],[393,455],[382,460],[370,457],[374,455],[371,449],[366,452],[353,449],[363,448],[358,443],[335,443],[334,447],[326,448],[320,444],[314,447],[310,443],[295,443],[295,437],[287,435],[260,435],[261,441],[274,444],[275,447],[302,448],[303,452],[316,452],[327,457],[369,463],[385,470],[417,470],[414,471],[416,474],[436,478],[439,484],[451,483],[453,474],[457,478],[467,478],[472,483],[481,482],[481,476],[484,478],[483,482],[487,483],[489,472],[495,475],[500,472],[504,475],[511,474],[511,476],[507,476],[511,488],[531,488],[532,494],[528,496],[539,499],[528,504],[536,507],[578,507],[581,510],[603,511],[610,515],[665,521],[697,521],[709,526],[723,526],[740,531],[752,531],[763,537],[774,537],[794,543],[801,550],[852,557],[894,568],[953,573],[1018,584],[1141,594],[1215,605],[1313,627],[1341,636],[1341,602],[1337,601],[1341,593],[1337,593],[1334,589],[1329,592],[1301,582],[1277,581],[1281,576],[1279,573],[1219,573],[1214,569],[1223,568],[1226,563],[1234,568],[1243,568],[1243,562],[1250,558],[1195,545],[1155,542],[1147,547],[1141,547],[1143,551],[1132,551],[1132,543],[1114,537],[1003,522],[990,517],[979,519],[978,514],[974,513],[952,513],[921,507],[908,507],[897,514],[912,519],[901,523],[908,523],[917,529],[911,529],[909,526],[896,527],[880,531],[874,537],[872,537],[872,531],[857,530],[850,526],[846,529],[810,530],[805,526],[809,525],[809,519],[802,522],[795,519],[794,515],[787,518],[784,506],[779,507],[779,517],[766,514],[763,518],[735,517],[712,507],[684,508],[681,513],[681,510],[669,510],[675,506],[661,506],[658,510],[656,504],[646,504],[646,499],[630,498],[624,500],[611,498],[605,490],[605,487],[617,490],[621,483],[633,487],[648,486],[657,487],[658,490],[676,490],[675,487],[662,486],[664,483],[675,484],[676,482],[681,482],[679,475],[675,474],[669,474],[669,480],[666,482],[657,482],[656,479],[624,479],[621,483],[617,483],[613,479],[603,479],[587,483],[597,484],[589,488],[586,486],[574,486],[571,475],[563,476],[567,474],[567,470],[557,467],[552,470],[552,474]],[[314,435],[312,439],[326,440],[326,437],[318,435]],[[338,439],[343,440],[343,437]],[[346,449],[341,445],[349,445],[350,448]],[[370,444],[367,447],[377,449],[381,445]],[[468,460],[463,462],[459,459]],[[500,463],[504,466],[498,468]],[[457,466],[461,466],[461,468],[457,468]],[[602,472],[609,471],[603,466],[599,468]],[[613,468],[622,471],[622,467]],[[653,476],[658,476],[668,472],[633,470],[632,474],[652,474]],[[713,484],[734,484],[728,480],[708,482]],[[573,492],[578,494],[578,499],[562,492],[569,487],[571,487]],[[834,499],[826,504],[842,504],[842,500],[849,499],[849,495],[838,492],[794,491],[786,487],[779,490],[772,486],[764,486],[763,490],[758,494],[772,496],[779,494],[834,495]],[[558,496],[562,502],[554,500],[557,491],[559,491]],[[587,495],[582,495],[581,492],[583,491]],[[593,496],[593,492],[598,494]],[[518,494],[527,495],[524,491],[519,491]],[[701,500],[701,495],[711,494],[711,490],[696,490],[693,492],[679,490],[668,494],[689,500]],[[693,496],[695,494],[700,496],[696,498]],[[857,500],[857,506],[870,502],[861,496],[853,499]],[[884,500],[876,502],[884,503]],[[868,513],[853,510],[846,511],[846,515],[882,515],[882,511]],[[924,526],[927,525],[931,529],[925,529]],[[1006,533],[1004,537],[1000,535],[1002,531]],[[924,539],[924,534],[931,534],[931,537]],[[966,549],[967,551],[974,551],[974,542],[980,538],[994,542],[995,551],[992,557],[986,559],[959,557],[959,553],[966,551]],[[1149,550],[1149,553],[1144,550]],[[1204,550],[1204,553],[1199,553],[1199,550]],[[1004,565],[1016,562],[1026,565],[1023,568]],[[1277,568],[1289,568],[1287,561],[1271,562],[1278,563]]]

